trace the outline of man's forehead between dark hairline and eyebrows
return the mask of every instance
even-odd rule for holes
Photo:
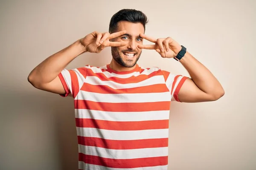
[[[131,23],[129,21],[120,21],[117,25],[117,32],[126,30],[127,34],[138,36],[144,34],[144,27],[141,23]]]

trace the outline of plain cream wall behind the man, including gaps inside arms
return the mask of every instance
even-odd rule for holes
[[[78,169],[73,99],[40,91],[27,77],[81,37],[108,31],[122,8],[143,11],[146,35],[184,45],[225,90],[215,102],[172,102],[169,170],[255,170],[254,0],[1,0],[0,170]],[[110,61],[106,48],[67,68]],[[189,76],[179,62],[151,50],[143,50],[138,64]]]

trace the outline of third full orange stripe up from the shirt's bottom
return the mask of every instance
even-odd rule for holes
[[[168,129],[168,120],[147,120],[136,122],[116,122],[108,120],[81,119],[76,118],[77,127],[91,127],[107,130],[148,130],[148,129]]]

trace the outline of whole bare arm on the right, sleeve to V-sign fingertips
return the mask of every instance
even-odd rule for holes
[[[153,42],[153,45],[139,45],[139,48],[156,50],[163,58],[174,58],[181,46],[171,37],[154,39],[141,34],[140,37]],[[180,102],[208,102],[224,95],[224,89],[214,75],[189,52],[186,52],[180,63],[189,72],[191,78],[181,86],[178,99]]]

